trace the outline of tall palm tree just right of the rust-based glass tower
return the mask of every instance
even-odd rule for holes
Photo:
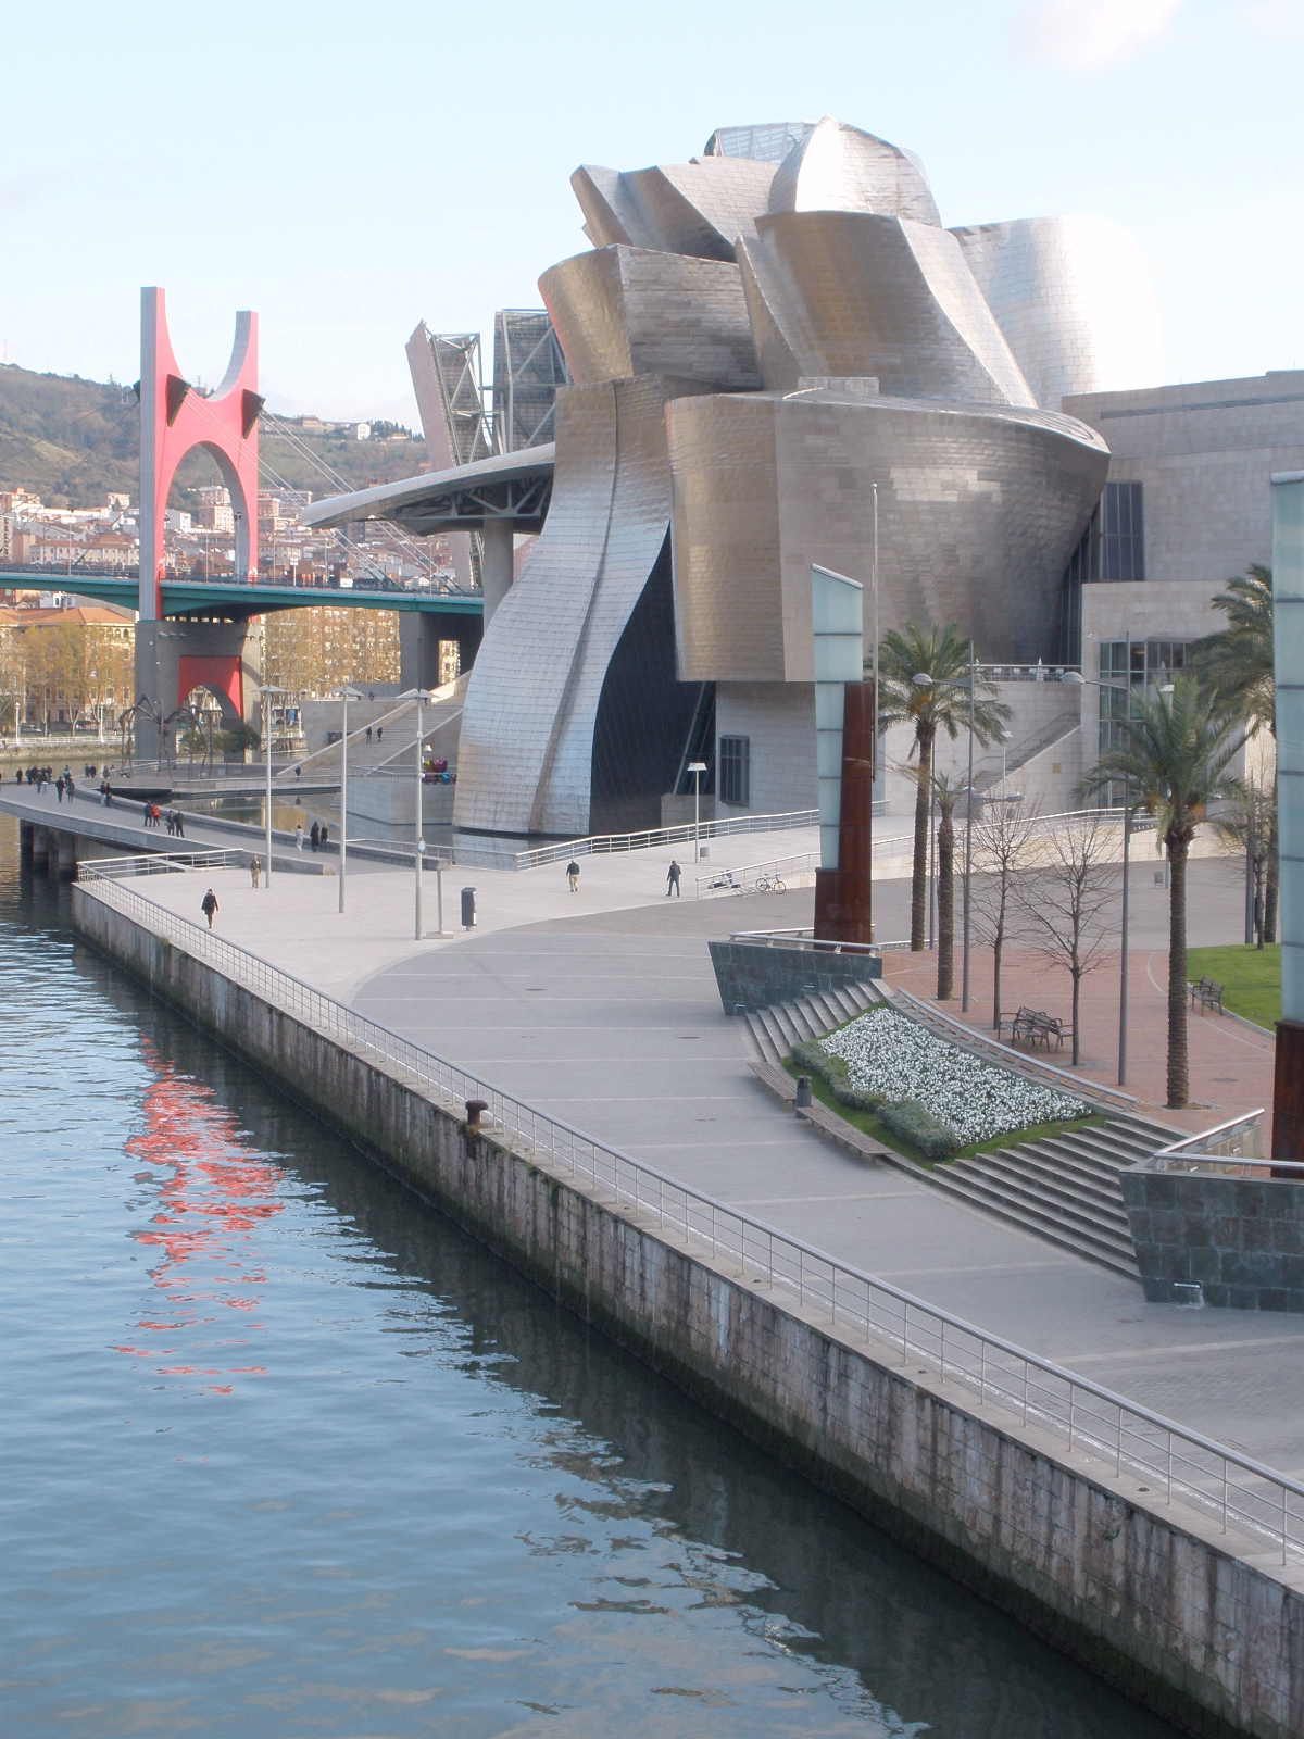
[[[866,670],[869,664],[866,664]],[[915,682],[928,676],[928,683]],[[996,687],[977,678],[974,692],[974,737],[984,748],[995,741],[1010,708],[993,699]],[[968,640],[955,623],[923,630],[918,623],[890,628],[878,649],[878,727],[911,723],[915,743],[915,866],[909,889],[909,946],[915,953],[925,941],[925,887],[928,880],[928,793],[932,790],[932,751],[937,732],[955,743],[961,725],[968,725]]]

